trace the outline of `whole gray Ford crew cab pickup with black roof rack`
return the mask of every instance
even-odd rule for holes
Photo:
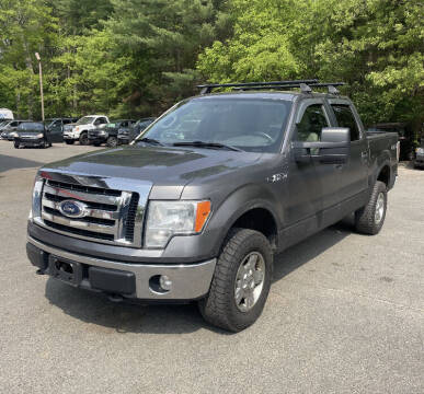
[[[276,253],[353,212],[362,233],[383,224],[398,137],[367,136],[334,85],[203,85],[131,146],[45,165],[31,263],[113,301],[197,301],[216,326],[250,326]]]

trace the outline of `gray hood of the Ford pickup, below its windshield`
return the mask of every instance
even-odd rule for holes
[[[177,185],[216,177],[252,165],[262,153],[198,148],[119,147],[77,155],[42,170],[149,181],[153,185]]]

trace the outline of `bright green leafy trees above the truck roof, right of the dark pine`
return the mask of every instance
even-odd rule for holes
[[[199,56],[210,81],[341,80],[365,123],[421,127],[421,0],[233,0],[231,12],[234,34]]]

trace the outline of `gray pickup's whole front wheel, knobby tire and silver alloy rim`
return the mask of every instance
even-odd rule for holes
[[[273,273],[273,253],[260,232],[233,229],[215,267],[209,293],[198,302],[204,318],[213,325],[240,332],[261,315]]]

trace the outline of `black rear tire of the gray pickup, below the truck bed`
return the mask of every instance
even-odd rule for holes
[[[378,199],[382,196],[382,213],[377,215]],[[381,197],[380,197],[381,198]],[[375,235],[378,234],[385,223],[387,211],[387,187],[380,181],[374,185],[371,196],[368,204],[355,212],[356,230],[363,234]],[[377,220],[379,219],[379,220]]]

